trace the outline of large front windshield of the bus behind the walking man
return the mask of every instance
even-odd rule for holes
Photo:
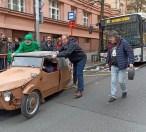
[[[108,37],[111,30],[117,31],[132,47],[139,46],[141,40],[139,23],[123,23],[105,26],[103,31],[103,46],[101,47],[103,50],[107,49]]]

